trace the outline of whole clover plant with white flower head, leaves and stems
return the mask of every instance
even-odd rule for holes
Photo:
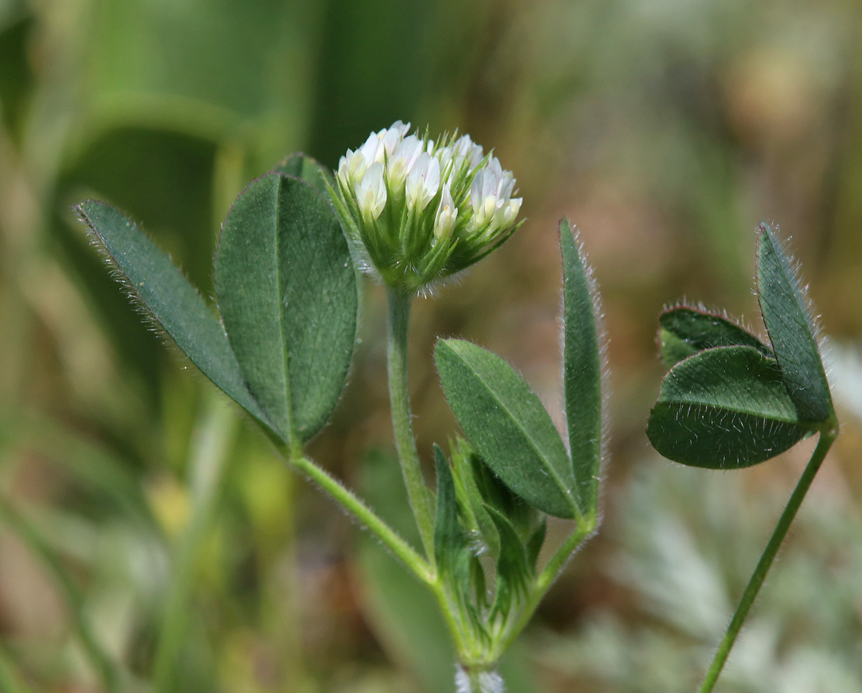
[[[515,177],[468,135],[437,141],[400,121],[347,151],[335,175],[294,154],[248,184],[215,252],[215,315],[168,256],[120,211],[78,213],[157,328],[434,594],[459,659],[456,687],[503,690],[497,663],[566,561],[597,527],[603,452],[597,294],[567,221],[563,261],[568,440],[499,356],[440,339],[434,359],[464,437],[434,445],[422,477],[409,405],[407,338],[417,295],[518,227]],[[361,276],[383,283],[392,426],[421,546],[411,546],[305,452],[338,403],[356,343]],[[430,451],[430,450],[429,450]],[[548,515],[573,520],[540,564]]]

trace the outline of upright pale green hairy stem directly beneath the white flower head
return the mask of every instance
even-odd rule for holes
[[[410,394],[407,382],[407,331],[410,322],[410,305],[413,296],[386,287],[389,300],[389,319],[386,323],[386,357],[389,375],[389,399],[392,409],[392,432],[398,461],[404,476],[404,485],[422,545],[428,560],[434,564],[434,518],[431,514],[431,496],[422,478],[422,467],[413,433],[413,414],[410,413]]]

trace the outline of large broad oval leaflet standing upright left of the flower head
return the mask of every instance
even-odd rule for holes
[[[302,180],[267,173],[240,193],[215,255],[222,320],[249,387],[300,442],[347,380],[358,277],[334,211]]]

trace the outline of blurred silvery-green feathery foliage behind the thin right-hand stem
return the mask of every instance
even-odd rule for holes
[[[637,614],[596,608],[577,634],[534,642],[543,665],[577,690],[694,690],[751,565],[780,513],[780,488],[743,491],[736,477],[662,466],[633,479],[608,579]],[[830,480],[834,482],[834,480]],[[862,518],[829,482],[812,493],[784,560],[763,590],[722,676],[728,693],[859,690]]]

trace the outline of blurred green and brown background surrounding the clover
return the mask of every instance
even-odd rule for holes
[[[762,218],[803,261],[843,432],[719,689],[859,693],[860,34],[849,0],[0,0],[0,691],[453,690],[427,595],[159,343],[71,211],[118,205],[209,296],[248,180],[402,118],[494,148],[528,217],[416,303],[426,462],[455,425],[438,335],[507,358],[561,422],[559,217],[603,292],[603,530],[504,663],[512,693],[703,674],[812,442],[733,474],[659,458],[653,335],[683,296],[761,329]],[[368,286],[311,453],[409,535],[383,331]]]

